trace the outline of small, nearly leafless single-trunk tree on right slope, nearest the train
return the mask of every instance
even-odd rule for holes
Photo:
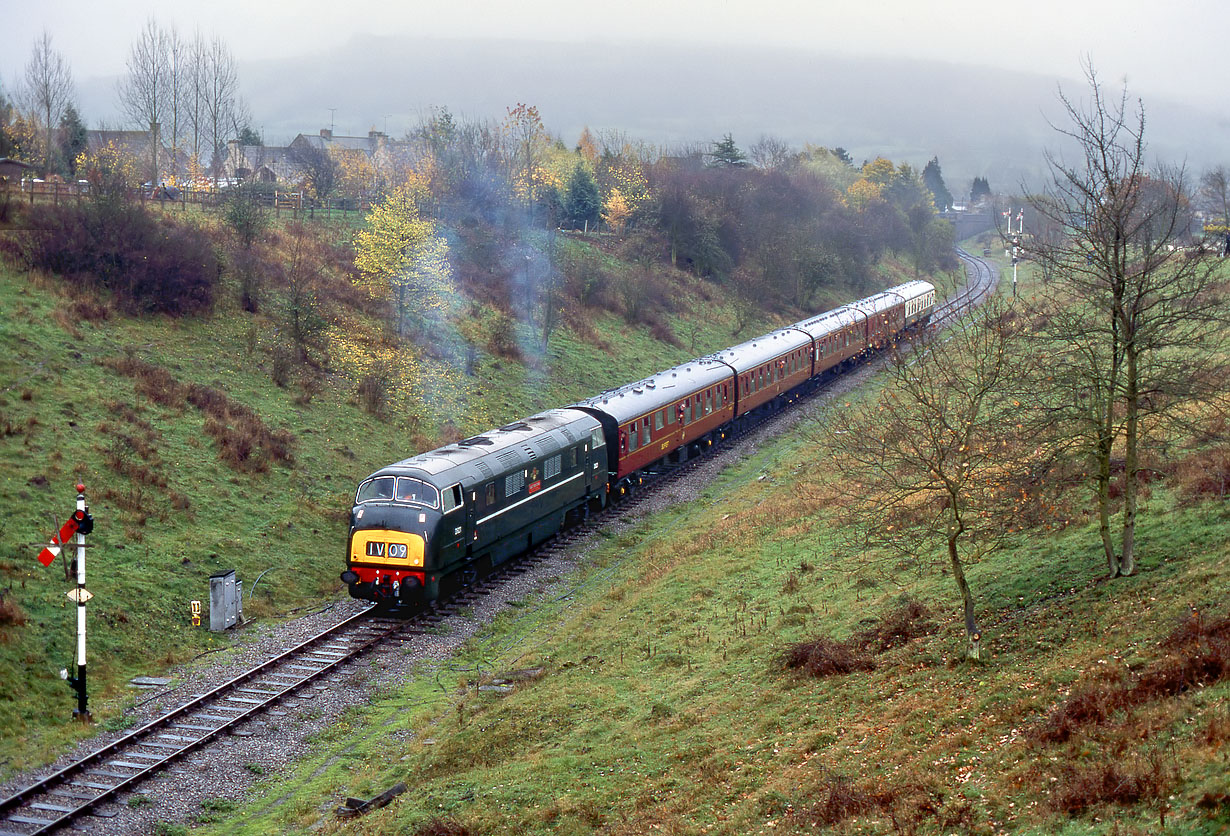
[[[1021,363],[1009,309],[993,300],[978,316],[893,355],[872,401],[827,427],[843,478],[841,515],[856,546],[940,566],[961,594],[970,655],[980,631],[966,566],[1020,526],[1031,463],[1014,459]]]

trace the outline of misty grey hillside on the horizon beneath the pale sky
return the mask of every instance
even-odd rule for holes
[[[790,49],[397,37],[244,65],[242,77],[271,144],[328,127],[330,108],[339,134],[387,125],[400,135],[432,106],[503,118],[506,107],[528,102],[567,143],[588,125],[665,144],[732,133],[747,146],[771,134],[840,145],[856,162],[883,154],[921,165],[938,155],[957,194],[975,175],[1002,191],[1034,182],[1042,149],[1057,145],[1047,122],[1060,113],[1057,85],[1077,97],[1085,89],[1080,79]],[[1113,90],[1116,81],[1105,81]],[[1230,159],[1230,117],[1145,104],[1160,157],[1197,172]]]

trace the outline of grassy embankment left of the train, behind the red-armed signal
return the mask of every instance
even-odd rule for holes
[[[320,234],[338,234],[330,230]],[[73,584],[63,563],[44,569],[34,559],[71,513],[76,481],[87,486],[96,520],[90,704],[101,723],[123,725],[129,677],[230,647],[231,637],[189,626],[189,601],[208,602],[212,573],[237,570],[248,618],[341,594],[354,484],[437,443],[442,425],[480,432],[748,336],[732,337],[733,312],[713,285],[676,274],[680,302],[663,318],[680,344],[614,314],[579,310],[579,333],[561,327],[531,363],[492,355],[478,342],[474,377],[449,370],[462,387],[446,413],[407,420],[395,395],[375,418],[359,406],[344,354],[387,348],[379,306],[358,304],[344,277],[320,282],[317,291],[331,298],[328,365],[309,382],[293,373],[279,387],[271,373],[284,286],[266,288],[256,315],[240,310],[236,289],[224,284],[207,317],[132,317],[0,263],[0,776],[43,763],[86,734],[66,722],[75,703],[58,676],[75,655],[64,595]],[[490,306],[472,306],[458,331],[481,341],[492,318]],[[517,337],[533,341],[525,326]],[[432,363],[426,368],[444,365]],[[428,374],[419,382],[433,381]]]

